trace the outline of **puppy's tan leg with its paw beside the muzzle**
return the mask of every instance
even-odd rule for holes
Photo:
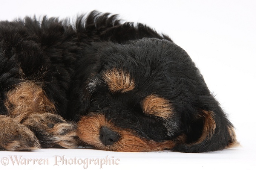
[[[10,117],[25,125],[38,138],[41,147],[74,148],[76,126],[54,114],[55,106],[40,85],[22,82],[6,94]]]

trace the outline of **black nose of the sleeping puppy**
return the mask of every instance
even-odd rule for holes
[[[120,135],[117,132],[114,132],[105,126],[100,129],[100,140],[105,145],[112,145],[118,141],[119,137]]]

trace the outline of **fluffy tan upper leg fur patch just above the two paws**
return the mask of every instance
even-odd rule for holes
[[[33,82],[21,82],[6,93],[5,106],[17,121],[34,112],[54,112],[55,106],[45,96],[41,87]]]

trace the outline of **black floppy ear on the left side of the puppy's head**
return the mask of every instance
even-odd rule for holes
[[[107,45],[107,43],[86,44],[79,53],[79,58],[74,65],[75,75],[72,78],[69,90],[70,101],[67,115],[71,120],[78,121],[81,115],[87,114],[91,98],[91,89],[88,89],[88,84],[104,66],[101,59],[101,50],[99,49]]]

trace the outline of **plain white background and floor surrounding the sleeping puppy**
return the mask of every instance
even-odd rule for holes
[[[75,18],[97,9],[120,14],[125,21],[145,23],[165,33],[186,50],[201,70],[209,89],[216,95],[236,127],[241,147],[211,153],[143,152],[120,153],[92,149],[40,149],[34,152],[0,151],[8,165],[0,169],[83,169],[83,165],[54,165],[54,155],[67,159],[120,159],[103,169],[256,169],[256,2],[254,0],[5,0],[0,20],[18,17]],[[49,165],[12,165],[9,156],[49,159]],[[87,169],[100,169],[93,163]]]

